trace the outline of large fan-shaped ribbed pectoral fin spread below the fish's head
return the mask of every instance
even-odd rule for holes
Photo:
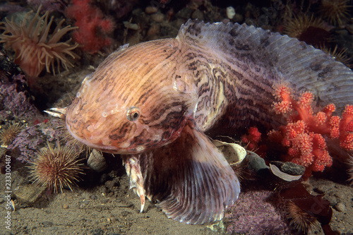
[[[140,154],[139,161],[145,194],[179,222],[220,220],[240,193],[225,157],[193,123],[173,143]]]

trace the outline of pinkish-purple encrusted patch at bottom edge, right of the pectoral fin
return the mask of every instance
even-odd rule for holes
[[[246,191],[225,215],[229,234],[291,234],[291,229],[274,206],[273,191]]]

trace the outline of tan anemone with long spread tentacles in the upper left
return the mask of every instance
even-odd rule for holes
[[[61,28],[64,19],[54,29],[52,35],[49,35],[49,30],[53,22],[53,17],[48,23],[48,14],[46,12],[42,17],[39,17],[40,9],[35,16],[32,17],[32,11],[27,13],[21,23],[16,23],[13,18],[0,23],[0,30],[4,30],[0,35],[0,43],[4,43],[5,47],[11,47],[15,51],[15,63],[20,65],[20,68],[28,74],[28,76],[37,77],[40,75],[44,67],[47,72],[55,74],[56,64],[62,64],[66,70],[68,67],[73,67],[71,61],[66,58],[66,54],[73,59],[78,58],[78,55],[72,52],[78,47],[78,44],[68,44],[59,42],[66,32],[76,29],[70,25]],[[59,71],[59,68],[58,68]]]

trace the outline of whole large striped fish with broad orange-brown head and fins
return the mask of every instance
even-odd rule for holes
[[[352,78],[349,68],[304,42],[189,20],[177,38],[109,55],[66,109],[66,126],[86,145],[121,154],[142,205],[147,196],[172,219],[213,222],[240,186],[205,132],[280,123],[270,113],[279,83],[342,110],[353,103]]]

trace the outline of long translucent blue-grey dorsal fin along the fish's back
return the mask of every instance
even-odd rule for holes
[[[353,73],[319,49],[297,39],[237,23],[189,20],[177,40],[215,50],[227,61],[246,60],[282,77],[297,91],[309,90],[321,106],[334,103],[338,111],[353,104]]]

